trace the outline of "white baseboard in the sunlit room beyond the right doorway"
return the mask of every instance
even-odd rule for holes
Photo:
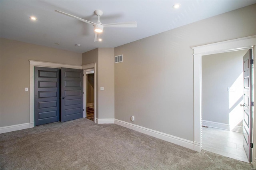
[[[224,129],[224,130],[230,130],[230,128],[231,128],[230,125],[225,124],[225,123],[218,123],[218,122],[204,121],[204,120],[203,120],[203,126],[213,127],[213,128],[220,128],[220,129]],[[230,131],[242,133],[243,132],[243,127],[235,126]]]

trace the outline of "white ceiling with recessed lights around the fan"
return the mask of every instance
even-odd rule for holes
[[[181,4],[179,9],[172,8],[176,3]],[[117,47],[255,3],[256,0],[0,0],[0,36],[84,53],[97,47]],[[102,42],[94,42],[92,25],[54,12],[60,10],[96,22],[96,9],[103,11],[102,24],[136,21],[138,26],[105,28],[100,34]],[[38,20],[32,21],[30,16]]]

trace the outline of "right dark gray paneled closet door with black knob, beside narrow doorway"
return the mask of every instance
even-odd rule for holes
[[[61,122],[83,117],[83,70],[61,69]]]

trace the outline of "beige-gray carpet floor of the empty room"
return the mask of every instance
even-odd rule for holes
[[[4,170],[251,170],[252,165],[88,119],[0,134]]]

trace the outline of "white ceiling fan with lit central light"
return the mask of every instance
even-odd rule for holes
[[[78,19],[82,22],[93,25],[94,26],[94,31],[95,31],[94,42],[98,41],[98,33],[103,32],[103,28],[107,28],[107,27],[112,27],[112,28],[132,28],[133,27],[134,28],[134,27],[137,27],[137,22],[118,22],[118,23],[111,23],[111,24],[102,24],[100,22],[100,16],[102,16],[102,14],[103,14],[102,10],[95,10],[94,11],[94,14],[96,14],[96,16],[98,16],[98,21],[96,23],[84,20],[82,18],[78,18],[76,16],[73,16],[71,14],[67,14],[65,12],[61,12],[61,11],[58,11],[58,10],[55,10],[55,12],[58,12],[60,14],[64,14],[66,16],[70,16],[72,18],[76,18],[76,19]]]

